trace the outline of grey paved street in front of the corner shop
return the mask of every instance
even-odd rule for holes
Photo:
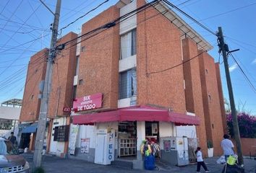
[[[24,154],[27,161],[32,165],[33,155]],[[208,169],[211,172],[220,173],[223,165],[216,164],[216,159],[210,158],[205,159]],[[255,173],[256,161],[250,159],[244,159],[244,165],[247,173]],[[190,164],[187,167],[168,167],[166,164],[158,164],[158,169],[155,171],[141,171],[135,169],[124,169],[121,167],[115,167],[112,165],[103,166],[100,164],[93,164],[88,161],[81,161],[77,159],[61,159],[56,156],[43,156],[43,168],[46,172],[55,172],[55,173],[74,173],[74,172],[196,172],[196,164]],[[201,170],[201,172],[204,172]]]

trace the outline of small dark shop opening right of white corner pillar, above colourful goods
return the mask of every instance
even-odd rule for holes
[[[145,137],[148,141],[159,143],[159,123],[158,122],[145,122]]]

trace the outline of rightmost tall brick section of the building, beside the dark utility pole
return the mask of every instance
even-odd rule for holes
[[[216,66],[214,59],[208,53],[202,53],[199,56],[199,62],[207,140],[213,143],[214,155],[220,156],[222,154],[223,123]]]

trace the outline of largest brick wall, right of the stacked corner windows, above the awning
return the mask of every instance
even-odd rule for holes
[[[145,1],[138,0],[137,6]],[[153,7],[137,14],[137,103],[186,112],[180,31]]]

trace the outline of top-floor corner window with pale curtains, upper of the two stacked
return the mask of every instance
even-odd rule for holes
[[[134,56],[137,53],[137,31],[132,30],[124,35],[121,35],[121,57],[120,59]]]

